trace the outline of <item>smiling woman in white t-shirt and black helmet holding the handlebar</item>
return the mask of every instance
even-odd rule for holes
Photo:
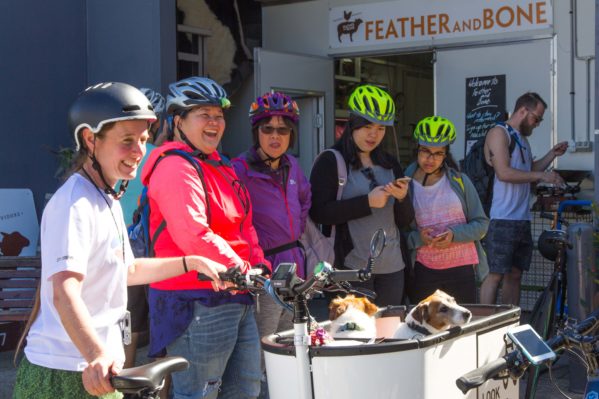
[[[197,270],[215,290],[223,287],[218,272],[226,268],[200,256],[133,258],[118,200],[155,119],[143,93],[124,83],[89,87],[71,106],[78,153],[42,216],[39,312],[30,318],[14,398],[121,397],[109,376],[125,359],[127,285]]]

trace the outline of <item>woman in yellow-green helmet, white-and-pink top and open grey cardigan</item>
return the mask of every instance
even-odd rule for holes
[[[460,303],[476,303],[476,275],[482,281],[488,273],[480,240],[489,219],[472,182],[458,172],[449,153],[455,127],[431,116],[418,123],[414,137],[417,161],[406,170],[413,177],[415,212],[408,237],[413,265],[408,295],[418,303],[442,289]]]

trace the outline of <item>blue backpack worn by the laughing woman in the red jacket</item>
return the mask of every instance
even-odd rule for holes
[[[193,165],[195,170],[200,176],[200,180],[204,185],[204,174],[202,167],[200,166],[199,160],[195,158],[189,152],[182,150],[169,150],[165,151],[164,154],[156,160],[150,174],[154,172],[156,166],[165,159],[167,156],[176,155],[184,158]],[[208,202],[208,192],[204,185],[204,193],[206,195],[206,212],[208,218],[208,224],[210,224],[210,203]],[[158,236],[166,228],[166,220],[158,226],[152,237],[150,237],[150,202],[148,199],[148,188],[144,186],[139,197],[139,205],[133,212],[133,223],[127,228],[127,234],[129,236],[129,242],[131,243],[131,250],[136,258],[152,258],[154,257],[154,244],[158,239]]]

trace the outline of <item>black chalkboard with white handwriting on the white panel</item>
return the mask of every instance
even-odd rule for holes
[[[466,78],[465,153],[505,115],[505,75]]]

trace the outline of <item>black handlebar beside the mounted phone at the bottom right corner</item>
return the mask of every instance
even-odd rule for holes
[[[546,342],[554,352],[561,351],[568,346],[576,345],[582,350],[584,355],[595,356],[594,353],[589,353],[588,347],[585,348],[581,344],[586,341],[594,341],[597,339],[588,336],[588,334],[592,333],[597,327],[599,327],[599,309],[593,311],[586,319],[579,323],[559,328],[556,335]],[[464,394],[466,394],[470,389],[484,384],[485,381],[496,377],[504,370],[508,370],[512,377],[519,378],[529,365],[530,362],[522,355],[520,349],[515,348],[507,355],[459,377],[456,380],[456,385]]]

